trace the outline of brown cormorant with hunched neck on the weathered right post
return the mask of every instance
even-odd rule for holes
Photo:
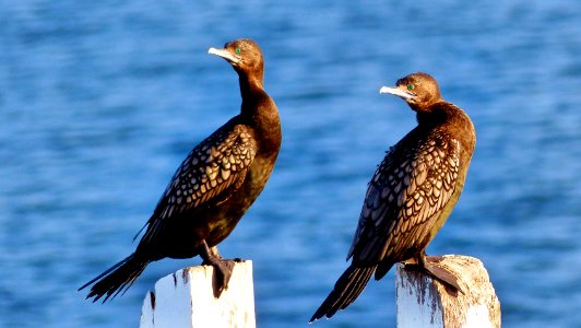
[[[347,255],[352,263],[311,323],[346,308],[374,272],[379,280],[395,262],[415,263],[460,290],[425,248],[462,192],[476,143],[474,126],[461,108],[441,98],[438,83],[426,73],[410,74],[380,93],[403,98],[416,112],[417,127],[388,151],[369,181]]]

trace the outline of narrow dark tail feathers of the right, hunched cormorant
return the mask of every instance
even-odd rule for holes
[[[357,268],[351,265],[335,282],[333,291],[327,296],[327,300],[319,306],[309,323],[327,316],[332,317],[337,311],[344,309],[359,296],[367,285],[367,282],[374,274],[376,266],[367,268]]]

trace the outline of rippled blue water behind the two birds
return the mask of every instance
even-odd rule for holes
[[[581,323],[581,2],[0,1],[0,327],[135,327],[151,265],[102,305],[76,289],[133,250],[189,150],[238,112],[206,54],[252,37],[284,128],[221,245],[253,260],[259,327],[306,327],[346,267],[366,184],[414,126],[414,71],[474,120],[460,202],[428,248],[481,258],[505,327]],[[280,1],[282,3],[282,1]],[[313,327],[390,327],[393,273]]]

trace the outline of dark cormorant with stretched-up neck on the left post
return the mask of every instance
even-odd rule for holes
[[[147,263],[166,257],[200,255],[215,269],[216,297],[227,288],[232,261],[220,256],[216,245],[264,188],[281,149],[282,131],[276,105],[263,87],[264,61],[258,44],[238,39],[208,52],[226,59],[238,73],[240,114],[200,142],[181,163],[142,229],[145,233],[135,251],[79,289],[94,283],[87,295],[93,302],[127,291]]]

